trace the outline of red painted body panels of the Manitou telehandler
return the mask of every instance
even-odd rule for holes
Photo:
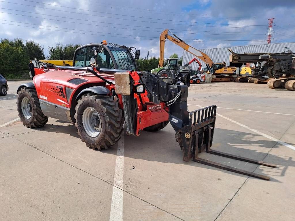
[[[35,77],[33,79],[38,97],[41,100],[46,100],[47,102],[51,102],[57,105],[62,105],[66,108],[71,108],[71,101],[73,99],[73,95],[81,86],[86,84],[95,84],[101,85],[109,90],[115,89],[115,85],[109,85],[98,77],[94,76],[91,73],[83,72],[83,71],[73,71],[73,70],[54,70],[54,69],[38,69],[35,68]],[[113,74],[103,74],[99,73],[105,79],[114,83],[114,75]],[[140,84],[140,77],[136,71],[130,72],[131,77],[133,78],[135,84]],[[79,85],[75,85],[69,83],[69,80],[81,78],[87,80],[87,82],[81,83]],[[72,88],[73,92],[71,93],[71,97],[67,100],[66,89],[65,87]],[[148,98],[148,92],[137,94],[134,93],[134,97],[137,99],[138,112],[137,112],[137,125],[135,128],[136,134],[135,136],[140,135],[140,131],[146,127],[153,126],[157,123],[161,123],[164,121],[168,121],[168,112],[164,110],[165,103],[160,102],[160,104],[151,104],[145,105],[146,102],[150,102]],[[140,98],[145,107],[143,107],[140,102]],[[121,99],[121,95],[118,95],[119,98],[119,107],[123,109],[123,103]]]

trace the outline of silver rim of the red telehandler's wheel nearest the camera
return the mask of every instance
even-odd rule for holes
[[[96,122],[99,122],[96,126],[94,126],[93,123],[94,118],[96,118]],[[89,136],[96,137],[99,135],[101,131],[101,119],[98,112],[94,108],[88,107],[83,111],[82,124],[85,132]]]

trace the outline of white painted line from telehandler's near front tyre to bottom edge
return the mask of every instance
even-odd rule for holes
[[[110,221],[123,220],[124,135],[118,141]]]

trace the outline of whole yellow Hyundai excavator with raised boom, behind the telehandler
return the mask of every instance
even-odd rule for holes
[[[206,55],[205,53],[195,49],[194,47],[191,47],[190,45],[186,44],[183,40],[181,40],[179,37],[177,37],[175,34],[173,34],[174,37],[168,34],[168,29],[164,30],[160,35],[160,60],[158,68],[153,69],[151,72],[160,72],[163,70],[163,63],[164,63],[164,48],[165,48],[165,41],[166,39],[170,40],[174,44],[177,44],[179,47],[183,48],[187,52],[191,53],[195,57],[201,59],[205,62],[208,70],[211,70],[210,72],[213,75],[217,75],[216,78],[219,78],[220,81],[224,80],[233,80],[232,77],[228,76],[222,76],[222,75],[235,75],[236,74],[236,67],[227,67],[225,62],[223,63],[214,63],[211,58]],[[155,73],[157,74],[157,73]],[[221,79],[223,78],[223,79]],[[227,78],[227,79],[225,79]],[[215,81],[218,81],[217,79]]]

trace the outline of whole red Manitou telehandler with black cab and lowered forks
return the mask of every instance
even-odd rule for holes
[[[200,159],[198,153],[205,149],[212,154],[276,166],[211,150],[216,106],[189,113],[186,99],[190,72],[180,72],[172,78],[136,71],[139,54],[135,48],[104,41],[77,48],[73,67],[32,67],[33,82],[17,89],[22,123],[38,128],[47,123],[48,117],[75,123],[86,146],[101,150],[120,139],[124,121],[127,135],[134,136],[143,130],[159,131],[170,122],[184,161],[193,158],[202,164],[269,179]]]

